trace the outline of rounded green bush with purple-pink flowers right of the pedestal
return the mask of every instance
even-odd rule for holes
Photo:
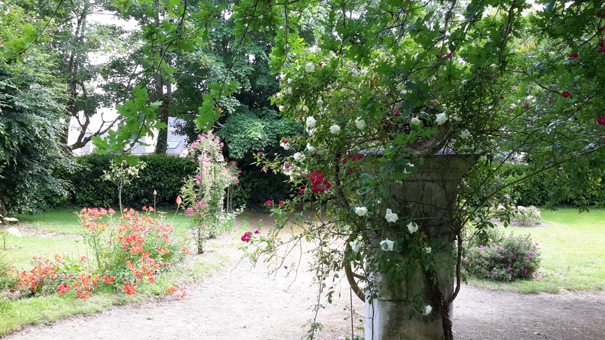
[[[471,245],[462,259],[467,272],[485,280],[500,282],[534,277],[540,268],[540,250],[530,235],[514,235],[511,232],[507,237],[498,227],[489,230],[488,235],[488,244],[467,238],[466,242]]]

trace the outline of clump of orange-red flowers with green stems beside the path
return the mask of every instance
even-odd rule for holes
[[[172,239],[174,228],[165,223],[164,214],[154,218],[152,212],[152,208],[142,214],[124,209],[116,220],[113,209],[82,209],[80,226],[93,258],[34,257],[33,269],[15,272],[15,289],[30,295],[74,293],[85,299],[100,284],[109,284],[128,295],[136,294],[137,284],[154,283],[158,272],[189,253],[183,242]]]

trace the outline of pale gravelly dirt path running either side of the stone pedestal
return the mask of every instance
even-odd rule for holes
[[[228,241],[227,238],[224,240]],[[300,339],[313,317],[316,285],[304,267],[293,281],[281,270],[267,278],[266,269],[240,263],[240,250],[217,249],[232,264],[187,287],[185,299],[169,296],[139,305],[114,307],[93,316],[76,316],[50,326],[25,327],[7,339]],[[306,255],[306,254],[303,254]],[[308,255],[307,255],[308,256]],[[296,255],[298,257],[298,254]],[[304,258],[303,258],[303,263]],[[292,284],[292,286],[290,286]],[[290,286],[290,287],[289,287]],[[288,289],[289,287],[289,289]],[[286,289],[288,289],[286,291]],[[347,283],[341,296],[319,312],[324,330],[318,339],[351,336]],[[353,308],[364,306],[353,296]],[[347,318],[347,319],[345,319]],[[359,325],[359,317],[355,318]],[[454,307],[456,339],[603,339],[604,293],[522,295],[465,286]],[[355,330],[355,335],[361,335]]]

